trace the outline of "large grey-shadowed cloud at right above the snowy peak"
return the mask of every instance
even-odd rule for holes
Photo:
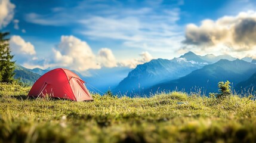
[[[248,11],[236,16],[224,16],[216,21],[203,20],[200,26],[188,24],[183,49],[224,54],[232,52],[238,56],[240,52],[242,56],[255,51],[255,36],[256,11]]]

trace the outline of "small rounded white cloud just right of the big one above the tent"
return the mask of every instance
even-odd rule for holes
[[[101,48],[98,51],[98,60],[100,61],[102,66],[105,67],[116,67],[116,58],[113,55],[111,49],[108,48]]]

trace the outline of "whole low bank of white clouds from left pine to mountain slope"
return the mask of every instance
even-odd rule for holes
[[[12,54],[14,54],[14,60],[29,69],[67,67],[85,72],[88,69],[100,69],[101,67],[126,66],[135,68],[138,64],[152,60],[152,55],[149,52],[142,52],[139,58],[117,62],[111,49],[101,48],[95,55],[87,42],[81,41],[75,36],[61,36],[60,43],[45,58],[36,57],[34,46],[17,35],[11,37],[10,47]]]

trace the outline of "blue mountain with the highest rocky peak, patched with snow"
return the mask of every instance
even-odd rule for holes
[[[134,70],[130,71],[114,92],[123,92],[122,94],[137,92],[140,89],[146,89],[158,83],[186,76],[206,64],[209,64],[209,62],[193,52],[187,52],[181,57],[172,60],[161,58],[151,60],[148,63],[138,65]]]

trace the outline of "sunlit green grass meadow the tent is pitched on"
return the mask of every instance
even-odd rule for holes
[[[256,102],[183,92],[92,102],[26,97],[0,85],[0,142],[256,142]]]

